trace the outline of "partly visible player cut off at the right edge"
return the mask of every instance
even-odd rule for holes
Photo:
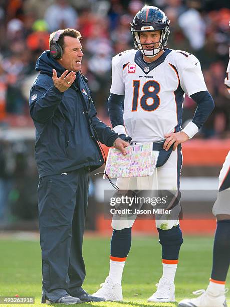
[[[230,26],[230,23],[229,23]],[[230,58],[230,48],[229,48]],[[230,94],[230,59],[227,66],[227,76],[224,84]],[[219,173],[219,191],[212,208],[216,216],[216,230],[213,244],[212,271],[206,291],[204,289],[194,291],[193,294],[201,294],[196,298],[183,299],[180,307],[226,307],[225,281],[230,261],[230,150],[226,156],[223,167]]]

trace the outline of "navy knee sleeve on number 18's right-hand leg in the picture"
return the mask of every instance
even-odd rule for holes
[[[163,230],[157,228],[161,245],[181,245],[183,243],[180,225],[173,226],[171,229]]]

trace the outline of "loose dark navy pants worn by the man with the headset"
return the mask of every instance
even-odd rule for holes
[[[39,230],[46,292],[81,286],[84,281],[82,241],[88,187],[85,168],[40,179]]]

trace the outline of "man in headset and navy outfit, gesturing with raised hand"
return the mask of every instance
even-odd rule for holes
[[[107,146],[114,144],[124,155],[129,145],[124,134],[118,135],[96,116],[87,79],[81,74],[80,38],[74,29],[50,35],[50,50],[37,60],[40,74],[30,93],[40,179],[43,303],[104,300],[82,288],[89,173],[104,164],[98,140]]]

